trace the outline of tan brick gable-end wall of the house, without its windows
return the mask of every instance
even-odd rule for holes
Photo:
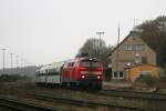
[[[142,48],[139,50],[128,50],[128,46],[142,46]],[[127,50],[126,47],[128,48]],[[156,65],[156,53],[141,38],[136,37],[135,34],[131,36],[124,40],[121,46],[112,53],[112,71],[113,73],[116,71],[123,71],[124,74],[126,74],[125,68],[135,64],[142,64],[143,58],[146,58],[146,63]],[[128,65],[129,63],[131,65]]]

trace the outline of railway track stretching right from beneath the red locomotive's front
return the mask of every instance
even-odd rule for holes
[[[104,95],[114,95],[123,98],[135,98],[144,100],[155,100],[155,101],[165,101],[166,94],[152,93],[152,92],[136,92],[136,91],[123,91],[123,90],[102,90],[100,94]]]

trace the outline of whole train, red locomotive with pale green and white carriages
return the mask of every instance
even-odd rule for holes
[[[75,58],[43,65],[35,74],[37,85],[102,89],[103,65],[96,58]]]

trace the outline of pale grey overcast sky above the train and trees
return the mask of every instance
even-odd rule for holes
[[[121,40],[135,23],[166,14],[166,0],[0,0],[0,49],[28,62],[45,64],[74,58],[87,38],[104,31],[106,44]],[[2,68],[2,50],[0,50]]]

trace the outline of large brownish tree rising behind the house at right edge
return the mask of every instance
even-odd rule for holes
[[[135,28],[141,38],[157,53],[157,63],[166,67],[166,17],[148,20]]]

